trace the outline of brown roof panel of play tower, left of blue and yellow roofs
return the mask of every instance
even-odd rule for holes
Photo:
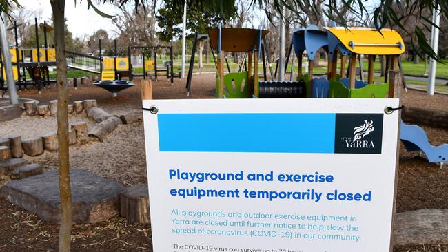
[[[247,52],[252,50],[252,46],[258,48],[258,31],[258,29],[247,28],[221,28],[221,50],[224,52]],[[263,30],[261,39],[268,33],[269,31]],[[218,29],[209,30],[208,35],[212,48],[216,50],[219,36]]]

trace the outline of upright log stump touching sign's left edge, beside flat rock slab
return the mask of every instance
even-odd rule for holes
[[[146,183],[134,185],[121,193],[120,215],[128,223],[150,223],[150,200]]]

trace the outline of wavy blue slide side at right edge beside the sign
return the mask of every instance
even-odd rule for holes
[[[440,162],[442,165],[448,160],[448,144],[431,145],[425,131],[417,125],[406,125],[402,120],[400,139],[407,151],[423,151],[429,162]]]

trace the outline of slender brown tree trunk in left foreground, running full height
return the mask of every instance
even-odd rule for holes
[[[54,48],[56,50],[56,84],[58,90],[58,166],[61,195],[61,224],[59,227],[59,251],[70,252],[72,232],[72,191],[68,160],[68,87],[67,59],[65,58],[65,0],[50,0],[53,11]]]

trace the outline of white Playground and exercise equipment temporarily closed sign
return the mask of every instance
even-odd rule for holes
[[[154,252],[389,251],[398,99],[146,100]]]

